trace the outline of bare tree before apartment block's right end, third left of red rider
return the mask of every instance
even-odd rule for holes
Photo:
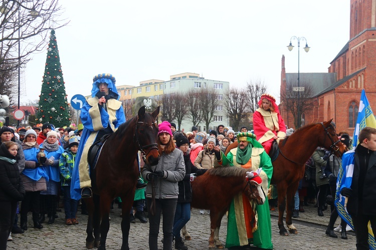
[[[200,91],[200,105],[205,121],[206,129],[209,131],[209,124],[214,120],[216,107],[219,104],[218,93],[215,89],[202,88]]]

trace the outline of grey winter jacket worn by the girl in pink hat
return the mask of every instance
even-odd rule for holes
[[[185,163],[181,150],[175,148],[169,154],[162,153],[156,166],[144,165],[142,177],[146,180],[148,174],[157,170],[162,170],[163,177],[154,178],[155,198],[156,199],[177,199],[179,188],[177,182],[182,180],[185,175]],[[151,181],[146,186],[146,198],[151,198]]]

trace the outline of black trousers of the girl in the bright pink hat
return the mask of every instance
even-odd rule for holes
[[[149,249],[158,249],[158,234],[160,214],[163,212],[163,250],[172,248],[172,227],[175,216],[177,199],[155,199],[155,214],[151,215],[151,198],[146,198],[147,211],[149,215]]]

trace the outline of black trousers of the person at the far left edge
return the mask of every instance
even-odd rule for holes
[[[13,226],[17,211],[17,200],[0,201],[0,250],[7,249],[9,233]]]

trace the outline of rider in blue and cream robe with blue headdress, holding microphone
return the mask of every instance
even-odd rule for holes
[[[71,184],[71,197],[91,197],[91,178],[88,163],[88,151],[93,142],[108,133],[113,133],[125,122],[124,109],[112,74],[98,74],[93,78],[91,98],[81,109],[81,121],[84,125],[76,159],[74,162]]]

